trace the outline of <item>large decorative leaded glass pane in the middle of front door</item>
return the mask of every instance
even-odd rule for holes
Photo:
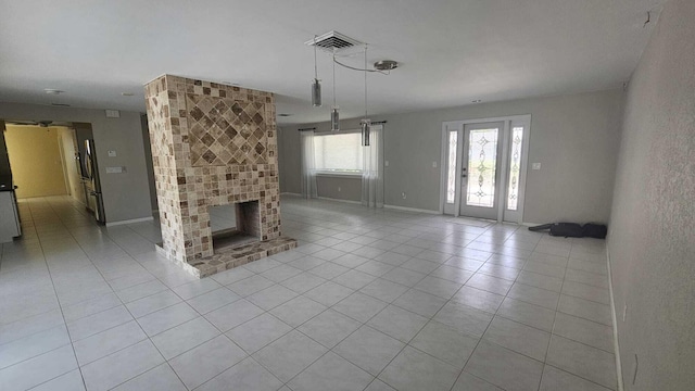
[[[497,128],[470,130],[466,205],[494,206],[498,130]]]

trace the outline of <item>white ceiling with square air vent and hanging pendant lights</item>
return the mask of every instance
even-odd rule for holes
[[[143,112],[142,85],[168,73],[273,91],[278,113],[292,114],[281,124],[327,121],[330,58],[319,52],[324,106],[314,109],[314,51],[303,42],[331,29],[367,42],[369,63],[402,64],[369,75],[374,114],[615,88],[661,2],[0,0],[0,101]],[[343,118],[364,112],[363,78],[337,68]]]

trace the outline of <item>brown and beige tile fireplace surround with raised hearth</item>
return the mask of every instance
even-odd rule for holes
[[[146,85],[152,161],[169,260],[205,277],[296,247],[280,235],[275,98],[164,75]],[[213,249],[208,207],[258,201],[260,241]]]

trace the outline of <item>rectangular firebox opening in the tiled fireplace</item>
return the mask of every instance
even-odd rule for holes
[[[233,249],[261,240],[258,201],[210,206],[213,250]]]

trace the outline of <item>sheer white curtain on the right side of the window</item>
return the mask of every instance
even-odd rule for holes
[[[362,204],[383,207],[383,125],[372,125],[369,147],[364,148]]]

